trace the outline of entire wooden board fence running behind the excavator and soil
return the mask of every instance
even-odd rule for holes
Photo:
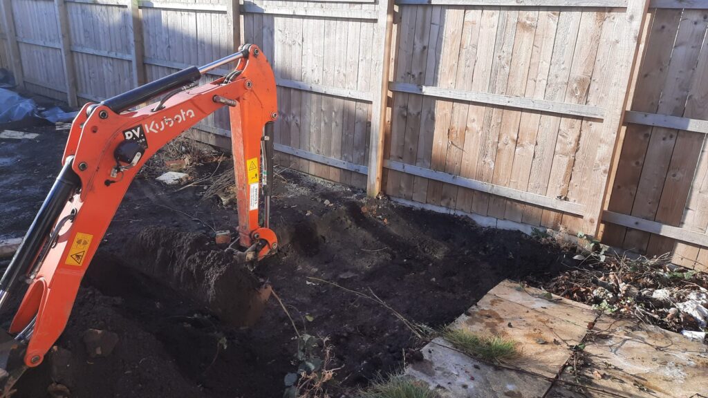
[[[253,42],[283,166],[493,225],[595,233],[604,214],[608,244],[708,263],[708,1],[398,0],[389,47],[384,0],[55,1],[1,2],[0,66],[31,91],[101,101]],[[227,110],[197,128],[229,135]]]

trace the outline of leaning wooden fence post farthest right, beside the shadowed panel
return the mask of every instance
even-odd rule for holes
[[[607,113],[598,142],[593,169],[590,172],[589,186],[599,187],[597,195],[588,198],[586,215],[583,217],[583,232],[597,236],[605,207],[605,196],[610,184],[610,168],[615,163],[618,136],[624,119],[624,108],[629,99],[629,86],[632,84],[634,64],[639,52],[639,39],[644,28],[644,20],[649,11],[650,0],[627,0],[627,10],[622,18],[627,21],[626,29],[617,33],[617,62],[607,93]]]

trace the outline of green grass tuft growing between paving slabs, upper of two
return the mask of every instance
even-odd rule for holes
[[[459,351],[487,362],[502,363],[519,356],[516,341],[499,335],[476,334],[467,329],[448,327],[442,337]]]

